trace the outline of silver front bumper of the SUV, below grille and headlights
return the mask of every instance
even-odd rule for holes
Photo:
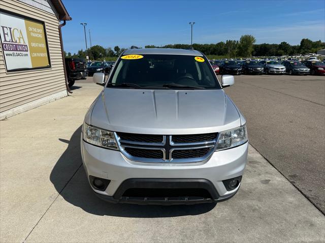
[[[114,203],[193,204],[225,200],[237,192],[240,184],[234,190],[228,191],[222,181],[243,175],[247,161],[248,142],[232,149],[214,152],[206,161],[190,164],[140,163],[129,160],[119,151],[93,146],[83,140],[81,140],[81,153],[87,178],[94,176],[110,180],[105,191],[96,190],[92,186],[94,192],[103,199]],[[120,186],[128,179],[134,178],[151,178],[154,181],[160,179],[204,179],[211,182],[211,190],[215,190],[215,196],[205,201],[198,199],[187,202],[188,198],[178,198],[174,201],[164,198],[154,202],[146,201],[144,198],[135,201],[132,198],[122,197],[119,192]]]

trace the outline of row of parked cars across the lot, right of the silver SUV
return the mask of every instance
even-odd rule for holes
[[[324,60],[323,60],[324,61]],[[210,60],[216,74],[320,74],[325,75],[325,63],[316,59],[298,60]]]

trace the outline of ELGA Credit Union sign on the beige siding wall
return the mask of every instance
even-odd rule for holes
[[[0,12],[0,37],[7,71],[50,67],[44,23]]]

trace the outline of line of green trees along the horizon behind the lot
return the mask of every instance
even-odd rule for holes
[[[216,44],[193,44],[194,50],[203,52],[205,55],[215,55],[224,57],[251,57],[251,56],[283,56],[283,55],[299,55],[307,53],[316,53],[319,49],[325,48],[325,43],[319,41],[311,41],[308,38],[303,38],[300,45],[290,45],[286,42],[280,44],[255,44],[254,36],[246,34],[242,35],[239,41],[227,40],[225,42],[218,42]],[[147,45],[145,48],[177,48],[190,49],[188,44],[173,44],[166,46]],[[89,57],[91,60],[110,59],[118,57],[125,49],[115,46],[112,48],[104,48],[96,45],[88,50],[79,50],[78,53],[67,53],[67,57],[85,58]]]

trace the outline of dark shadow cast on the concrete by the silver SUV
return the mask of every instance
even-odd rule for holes
[[[200,215],[211,211],[216,206],[216,204],[145,206],[111,204],[101,200],[92,192],[82,166],[80,135],[81,126],[74,132],[70,141],[59,139],[69,145],[57,160],[50,175],[55,189],[68,203],[94,215],[131,218]]]

